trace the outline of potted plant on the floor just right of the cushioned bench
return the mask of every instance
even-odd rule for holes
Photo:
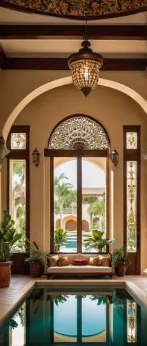
[[[127,268],[130,266],[130,260],[128,259],[124,246],[122,248],[116,248],[113,251],[112,266],[114,266],[117,276],[124,276],[126,274]]]

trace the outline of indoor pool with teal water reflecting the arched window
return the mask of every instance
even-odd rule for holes
[[[0,329],[1,346],[147,345],[147,312],[125,289],[34,289]]]

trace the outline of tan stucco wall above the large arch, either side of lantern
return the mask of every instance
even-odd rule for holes
[[[3,131],[6,120],[8,120],[8,117],[10,117],[10,114],[16,107],[18,107],[17,113],[19,113],[21,107],[18,106],[19,102],[24,100],[31,92],[40,86],[42,87],[43,84],[68,76],[70,76],[70,71],[0,71],[0,131]],[[147,102],[147,73],[145,71],[101,71],[100,78],[128,86],[141,95],[145,103]],[[37,91],[35,93],[37,95]],[[142,100],[140,101],[142,102]],[[147,113],[147,104],[145,104],[145,107]],[[8,127],[12,125],[13,121],[14,119],[11,119],[7,124],[5,135],[8,134]]]

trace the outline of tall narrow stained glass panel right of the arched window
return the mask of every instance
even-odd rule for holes
[[[137,251],[137,161],[127,161],[127,251]]]

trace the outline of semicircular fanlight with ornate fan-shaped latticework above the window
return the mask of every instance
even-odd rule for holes
[[[52,132],[48,149],[109,149],[109,140],[98,122],[74,116],[61,122]]]

